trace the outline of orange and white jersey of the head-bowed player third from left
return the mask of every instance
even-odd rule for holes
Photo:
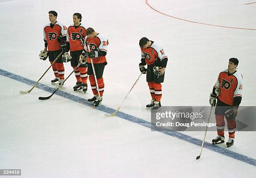
[[[108,52],[108,38],[101,35],[100,33],[97,34],[94,38],[86,38],[86,44],[89,43],[91,51],[105,51]],[[87,46],[84,45],[84,49],[88,52]],[[99,56],[98,58],[92,58],[93,63],[99,64],[106,62],[106,56]],[[88,60],[88,63],[91,63]]]

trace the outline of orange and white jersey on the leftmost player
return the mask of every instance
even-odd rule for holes
[[[59,36],[67,36],[67,27],[63,23],[56,22],[51,28],[51,23],[44,26],[44,40],[48,43],[48,51],[60,50],[60,43],[57,40]]]

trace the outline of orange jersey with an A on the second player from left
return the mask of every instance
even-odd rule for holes
[[[79,26],[74,26],[74,24],[69,25],[67,30],[67,42],[69,42],[70,51],[83,50],[84,46],[81,46],[81,38],[86,36],[86,26],[81,23]]]

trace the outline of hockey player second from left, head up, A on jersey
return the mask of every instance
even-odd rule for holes
[[[80,13],[74,13],[73,22],[74,24],[70,25],[67,30],[67,52],[70,49],[71,66],[73,69],[79,63],[79,57],[84,50],[85,36],[86,36],[86,27],[82,21],[82,15]],[[79,68],[74,71],[77,78],[77,83],[73,87],[74,91],[83,89],[83,92],[87,91],[87,64],[81,64]]]

